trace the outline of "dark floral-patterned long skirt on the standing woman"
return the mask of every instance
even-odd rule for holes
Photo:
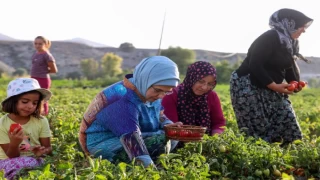
[[[249,136],[284,144],[301,139],[302,133],[288,95],[251,84],[250,75],[233,72],[230,95],[238,128]]]

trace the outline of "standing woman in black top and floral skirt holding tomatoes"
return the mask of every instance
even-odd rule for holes
[[[293,9],[275,12],[270,17],[271,30],[252,43],[247,57],[232,73],[232,105],[238,127],[247,135],[284,144],[302,138],[288,99],[290,85],[283,81],[300,80],[295,59],[303,56],[299,54],[298,38],[312,21]]]

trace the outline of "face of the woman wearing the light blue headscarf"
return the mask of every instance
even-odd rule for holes
[[[172,93],[172,88],[174,88],[174,86],[152,85],[147,90],[146,100],[149,102],[154,102],[158,99],[162,99],[165,95]]]

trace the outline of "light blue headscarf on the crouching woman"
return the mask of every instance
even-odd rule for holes
[[[176,63],[165,56],[152,56],[136,66],[129,80],[146,97],[152,85],[177,86],[180,79]]]

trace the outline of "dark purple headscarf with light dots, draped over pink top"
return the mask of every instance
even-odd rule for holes
[[[192,86],[208,75],[212,75],[216,79],[216,69],[208,62],[198,61],[188,67],[186,78],[178,86],[177,110],[179,121],[186,125],[207,127],[207,132],[211,132],[211,120],[207,101],[210,91],[201,96],[195,95],[192,91]]]

